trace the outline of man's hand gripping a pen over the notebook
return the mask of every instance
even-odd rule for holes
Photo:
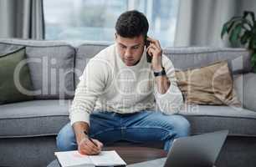
[[[80,154],[100,154],[103,144],[97,139],[92,140],[96,145],[91,142],[87,136],[78,141],[78,150]]]

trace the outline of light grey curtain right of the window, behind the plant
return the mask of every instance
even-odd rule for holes
[[[243,10],[256,13],[255,0],[180,0],[174,46],[228,46],[223,23]]]

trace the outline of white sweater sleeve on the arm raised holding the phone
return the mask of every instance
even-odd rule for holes
[[[162,113],[177,114],[182,108],[184,102],[181,90],[177,87],[177,78],[172,61],[165,55],[162,55],[162,65],[166,70],[166,77],[171,82],[169,89],[165,94],[160,94],[157,90],[157,85],[154,86],[154,95],[156,104]]]

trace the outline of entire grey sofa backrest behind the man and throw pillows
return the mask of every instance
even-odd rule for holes
[[[33,86],[40,94],[36,99],[70,99],[79,83],[79,76],[90,58],[111,43],[86,42],[74,48],[67,42],[0,39],[0,52],[26,46],[28,67]],[[176,69],[202,67],[220,60],[228,60],[235,73],[252,71],[250,54],[244,48],[164,48]]]

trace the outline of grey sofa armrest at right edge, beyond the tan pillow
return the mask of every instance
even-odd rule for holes
[[[243,107],[256,111],[256,73],[243,74]]]

